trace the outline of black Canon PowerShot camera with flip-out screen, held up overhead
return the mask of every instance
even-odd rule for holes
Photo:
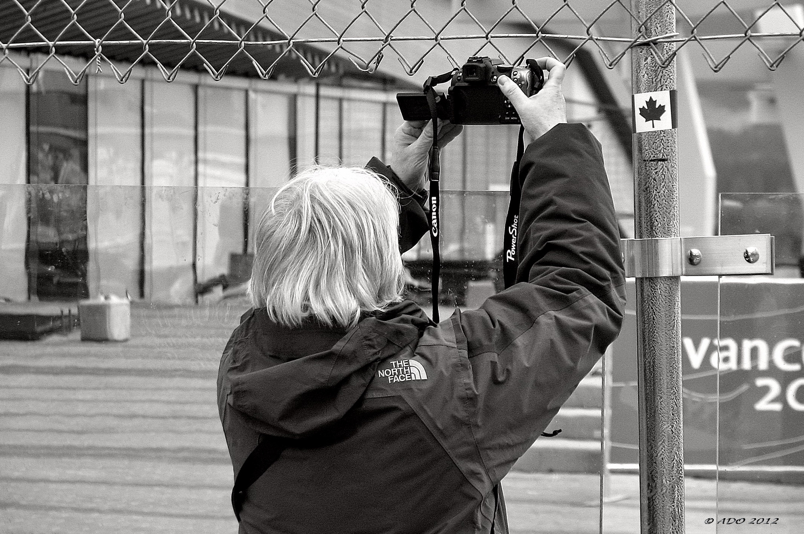
[[[468,59],[453,73],[446,97],[436,93],[439,119],[453,124],[520,124],[511,102],[497,86],[499,75],[507,75],[527,95],[539,92],[544,85],[544,71],[533,59],[525,66],[514,67],[502,59],[476,56]],[[430,120],[427,97],[421,92],[400,92],[396,95],[404,120]]]

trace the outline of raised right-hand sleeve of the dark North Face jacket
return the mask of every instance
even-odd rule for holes
[[[527,451],[620,331],[625,276],[601,145],[559,124],[520,164],[517,283],[450,319],[491,479]]]

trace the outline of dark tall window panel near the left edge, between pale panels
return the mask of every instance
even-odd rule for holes
[[[28,289],[39,300],[87,297],[86,79],[42,71],[30,91],[28,181],[43,187],[31,196]]]

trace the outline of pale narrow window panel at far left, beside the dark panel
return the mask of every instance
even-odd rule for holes
[[[25,145],[26,85],[16,69],[0,67],[0,109],[3,121],[3,149],[0,150],[0,184],[26,182]],[[28,218],[21,188],[0,189],[0,297],[27,300],[25,241]]]

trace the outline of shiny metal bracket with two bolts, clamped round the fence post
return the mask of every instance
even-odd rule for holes
[[[773,275],[770,234],[621,239],[626,276]]]

